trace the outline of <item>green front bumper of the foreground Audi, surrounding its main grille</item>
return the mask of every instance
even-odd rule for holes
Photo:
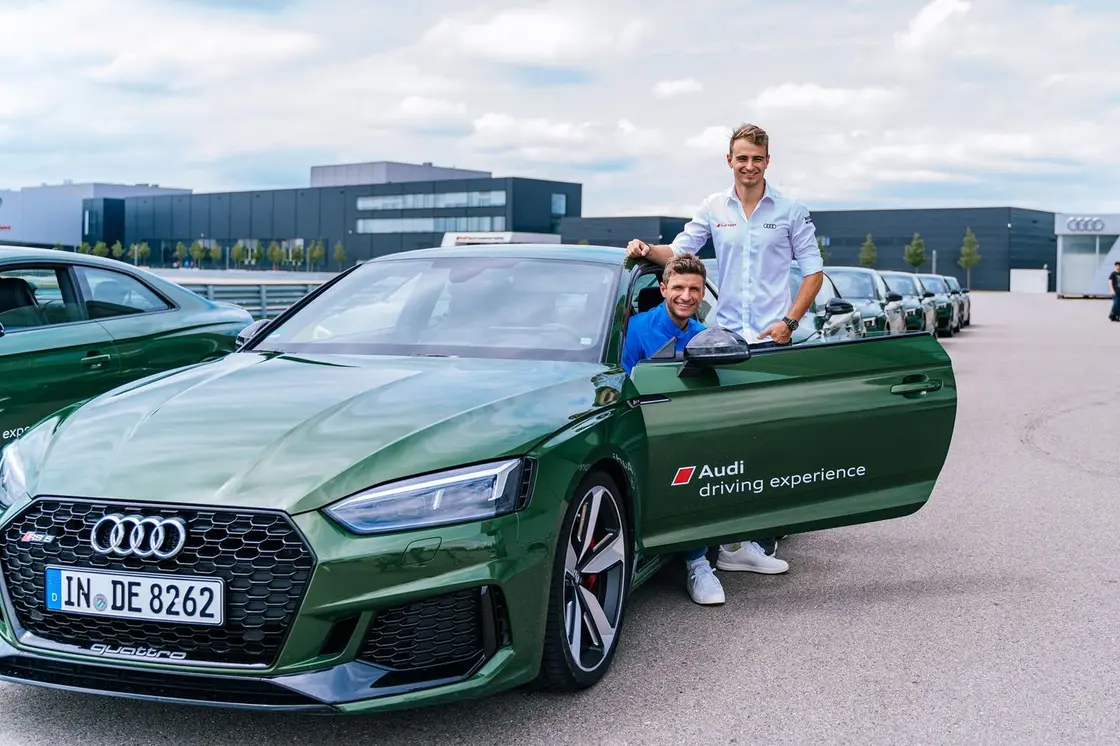
[[[104,502],[94,504],[100,514]],[[306,584],[295,594],[280,575],[253,578],[252,588],[263,590],[255,599],[246,596],[249,603],[264,604],[269,589],[274,596],[280,587],[288,594],[288,616],[267,662],[230,664],[213,660],[221,656],[217,649],[200,646],[187,632],[179,638],[194,660],[153,661],[157,647],[170,649],[176,640],[162,625],[156,632],[164,636],[153,642],[147,636],[151,623],[132,637],[114,624],[116,637],[97,652],[90,634],[78,638],[75,627],[45,626],[50,613],[27,604],[27,588],[10,593],[12,581],[19,582],[13,571],[26,577],[48,560],[57,565],[68,557],[75,567],[82,560],[59,547],[59,556],[20,562],[18,557],[44,551],[12,541],[29,510],[16,511],[0,530],[3,680],[211,707],[367,712],[486,696],[528,682],[538,671],[552,557],[547,542],[519,541],[522,515],[384,537],[353,537],[318,513],[290,519],[312,557]],[[231,608],[233,599],[231,591]],[[272,608],[277,618],[284,612]],[[226,632],[214,643],[225,651],[235,650],[239,635],[260,642],[252,625]]]

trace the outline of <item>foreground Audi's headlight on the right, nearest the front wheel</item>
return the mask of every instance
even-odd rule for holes
[[[361,492],[326,509],[354,533],[482,521],[520,507],[523,461],[480,464]]]

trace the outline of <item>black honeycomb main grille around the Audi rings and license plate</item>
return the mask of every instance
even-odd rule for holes
[[[103,557],[93,551],[93,525],[108,513],[178,516],[188,539],[178,556],[160,560]],[[28,531],[50,543],[24,543]],[[185,663],[269,665],[302,600],[315,559],[288,516],[272,512],[177,509],[40,498],[8,524],[0,547],[12,623],[56,645],[156,647],[186,654]],[[48,565],[222,578],[225,624],[220,627],[133,622],[47,612]]]

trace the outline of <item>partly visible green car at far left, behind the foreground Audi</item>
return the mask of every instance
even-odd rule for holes
[[[0,447],[75,401],[233,352],[252,320],[112,259],[0,246]]]

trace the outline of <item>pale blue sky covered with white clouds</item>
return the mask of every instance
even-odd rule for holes
[[[0,0],[0,188],[430,160],[687,215],[727,134],[811,208],[1120,212],[1110,0]]]

